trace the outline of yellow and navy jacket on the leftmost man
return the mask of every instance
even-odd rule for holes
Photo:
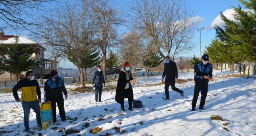
[[[31,102],[37,100],[37,96],[41,99],[41,90],[36,80],[27,78],[21,79],[13,88],[12,93],[14,98],[19,99],[17,90],[21,89],[21,100]]]

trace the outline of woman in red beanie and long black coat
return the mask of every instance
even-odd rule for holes
[[[133,102],[133,88],[131,85],[132,83],[136,82],[136,79],[133,79],[131,74],[131,65],[129,62],[124,63],[124,67],[121,68],[121,71],[119,73],[119,79],[117,81],[116,86],[116,97],[115,101],[117,103],[120,103],[122,111],[124,110],[124,98],[128,98],[129,102],[129,110],[132,109],[132,102]]]

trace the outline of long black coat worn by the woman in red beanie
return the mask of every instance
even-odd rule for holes
[[[130,74],[129,80],[126,79],[126,73],[123,71],[120,71],[119,73],[119,79],[117,81],[117,86],[116,86],[116,96],[115,96],[115,101],[117,103],[122,103],[122,100],[124,98],[130,98],[133,100],[133,88],[130,83],[130,80],[133,80],[132,74]],[[128,92],[124,92],[124,88],[126,84],[129,83],[130,85],[130,90],[128,89]]]

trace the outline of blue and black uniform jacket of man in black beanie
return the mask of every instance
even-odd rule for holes
[[[64,82],[61,77],[53,82],[52,78],[46,80],[44,83],[45,101],[52,101],[57,99],[59,96],[67,95]],[[62,93],[63,92],[63,93]]]

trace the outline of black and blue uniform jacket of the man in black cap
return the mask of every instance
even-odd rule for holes
[[[194,81],[195,83],[208,83],[209,80],[204,78],[204,75],[213,77],[213,67],[211,63],[207,63],[206,65],[203,64],[203,62],[198,62],[194,66]]]

